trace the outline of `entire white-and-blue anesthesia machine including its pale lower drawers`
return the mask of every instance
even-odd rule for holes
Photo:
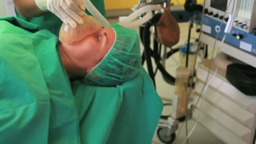
[[[230,3],[231,2],[231,3]],[[230,5],[229,5],[230,3]],[[227,9],[227,11],[226,11]],[[227,12],[227,14],[225,14]],[[227,24],[227,38],[220,51],[256,67],[256,0],[205,0],[205,13],[200,41],[213,46],[219,29]],[[233,18],[234,22],[230,22]],[[224,21],[220,26],[221,21]],[[230,32],[230,33],[229,33]],[[224,30],[219,32],[216,45],[220,45]],[[202,107],[196,106],[193,117],[226,144],[256,144],[256,99],[238,91],[219,71],[200,99]],[[195,99],[203,89],[208,67],[199,64]],[[209,77],[213,76],[211,71]],[[237,76],[239,78],[239,76]],[[201,116],[197,119],[201,111]]]

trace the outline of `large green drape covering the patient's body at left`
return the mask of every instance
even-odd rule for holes
[[[18,18],[1,19],[0,144],[80,144],[58,37]]]

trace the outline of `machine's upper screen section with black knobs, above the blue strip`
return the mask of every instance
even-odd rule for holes
[[[205,16],[227,22],[226,9],[236,13],[234,27],[256,34],[256,0],[205,0]]]

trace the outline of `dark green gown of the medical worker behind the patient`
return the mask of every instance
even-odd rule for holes
[[[98,9],[98,11],[105,18],[107,18],[105,7],[104,7],[104,0],[91,0],[91,2]],[[63,22],[50,11],[46,12],[43,16],[34,17],[34,18],[23,18],[22,16],[19,15],[16,9],[15,9],[15,12],[18,18],[28,21],[32,24],[38,25],[39,29],[48,29],[55,35],[59,36],[59,29]],[[91,15],[91,13],[89,13],[88,10],[86,10],[85,12]]]

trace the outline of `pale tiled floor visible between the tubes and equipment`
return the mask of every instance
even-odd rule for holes
[[[109,22],[111,24],[117,23],[118,19],[109,19]],[[180,41],[177,45],[183,45],[187,40],[188,23],[180,23],[179,26],[181,29],[181,35],[180,35]],[[137,28],[137,31],[138,31],[138,28]],[[192,30],[192,38],[195,38],[195,37],[196,37],[196,33],[195,33],[195,26],[194,26],[194,29]],[[141,45],[141,50],[143,50],[142,45]],[[209,52],[211,53],[211,50],[209,50]],[[166,60],[165,67],[167,71],[173,76],[175,75],[176,67],[178,67],[178,61],[179,61],[179,53],[175,53],[168,60]],[[200,59],[198,59],[198,61],[200,61]],[[146,64],[144,64],[144,67],[147,70],[147,66],[145,65]],[[155,64],[153,65],[153,68],[155,68]],[[160,72],[157,72],[155,81],[156,81],[157,93],[160,95],[160,97],[163,99],[172,99],[172,95],[174,94],[174,86],[168,85],[167,83],[165,83]],[[171,107],[165,107],[163,110],[164,115],[168,115],[170,114],[170,112],[171,112]],[[191,131],[194,124],[195,124],[195,120],[188,121],[189,132]],[[179,127],[180,126],[181,124],[179,125]],[[178,131],[176,131],[176,134],[178,133]],[[181,133],[179,134],[179,137],[176,138],[176,144],[182,144],[185,138],[186,138],[185,125],[183,125],[181,129]],[[163,144],[158,139],[157,134],[155,134],[152,144]],[[189,144],[224,144],[224,143],[218,138],[216,138],[205,127],[198,124],[197,127],[195,128],[195,131],[192,133],[192,135],[189,138]]]

